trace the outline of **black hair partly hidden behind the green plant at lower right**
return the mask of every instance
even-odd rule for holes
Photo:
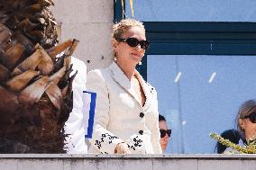
[[[221,134],[221,137],[224,139],[229,139],[234,144],[239,144],[240,139],[243,140],[242,135],[238,130],[224,130],[224,132]],[[215,147],[218,154],[223,154],[226,148],[226,146],[219,142],[217,142]]]

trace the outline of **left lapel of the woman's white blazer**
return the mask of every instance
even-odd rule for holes
[[[114,80],[119,85],[121,85],[123,89],[125,89],[129,94],[131,94],[135,99],[135,101],[137,101],[137,103],[141,105],[141,102],[138,100],[135,92],[133,91],[130,80],[128,79],[127,76],[123,74],[123,71],[121,70],[121,68],[118,67],[115,62],[113,62],[108,68],[111,70]]]

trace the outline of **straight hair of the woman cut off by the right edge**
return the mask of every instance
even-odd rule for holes
[[[239,120],[244,119],[244,117],[250,115],[251,112],[256,112],[256,101],[249,100],[242,103],[236,116],[237,129],[240,130],[241,132],[244,132],[244,130],[242,129]]]

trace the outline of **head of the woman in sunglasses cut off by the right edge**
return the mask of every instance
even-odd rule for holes
[[[237,128],[244,133],[245,139],[256,137],[256,101],[242,103],[236,117]]]

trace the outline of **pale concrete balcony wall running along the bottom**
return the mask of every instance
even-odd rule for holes
[[[254,170],[254,155],[0,155],[5,170]]]

